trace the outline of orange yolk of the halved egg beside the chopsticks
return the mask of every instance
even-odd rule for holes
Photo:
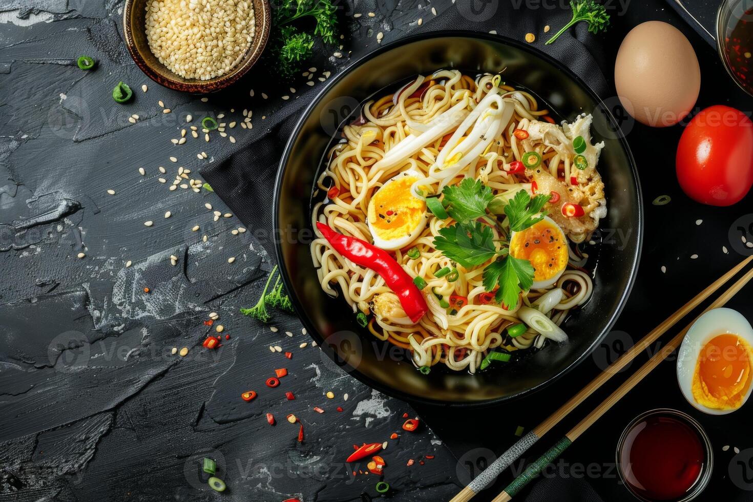
[[[736,409],[751,385],[751,348],[733,334],[712,338],[698,354],[693,397],[712,409]]]

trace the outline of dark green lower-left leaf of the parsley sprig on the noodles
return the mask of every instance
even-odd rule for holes
[[[492,229],[478,221],[457,223],[439,231],[434,247],[462,266],[478,266],[498,253]]]

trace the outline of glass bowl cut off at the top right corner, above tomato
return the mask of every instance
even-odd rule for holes
[[[716,16],[716,47],[733,81],[753,96],[753,2],[721,2]]]

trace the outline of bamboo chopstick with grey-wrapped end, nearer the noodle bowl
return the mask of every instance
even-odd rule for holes
[[[722,275],[716,281],[712,282],[712,284],[709,284],[709,286],[699,294],[697,294],[696,297],[685,303],[684,306],[681,306],[680,309],[669,316],[669,318],[667,318],[665,321],[651,330],[648,334],[646,334],[646,336],[644,336],[638,343],[636,343],[636,345],[633,345],[630,350],[622,354],[622,356],[620,356],[617,361],[614,361],[614,363],[610,364],[606,370],[604,370],[602,373],[599,373],[599,376],[596,376],[596,378],[593,379],[584,388],[582,388],[581,391],[578,391],[575,396],[571,397],[565,404],[560,406],[559,409],[556,410],[556,412],[553,412],[551,415],[549,415],[548,418],[542,421],[541,424],[538,424],[538,426],[535,427],[532,431],[521,437],[520,440],[517,441],[517,443],[511,446],[510,449],[508,449],[505,453],[500,455],[497,460],[492,462],[492,464],[490,464],[489,467],[486,468],[486,470],[476,476],[473,481],[468,483],[468,486],[459,491],[459,493],[456,494],[456,496],[453,497],[450,502],[467,502],[468,500],[471,500],[471,498],[473,498],[475,494],[483,490],[483,488],[491,485],[494,479],[499,475],[499,473],[507,469],[510,464],[512,464],[517,458],[519,458],[520,455],[523,455],[523,453],[525,453],[527,449],[534,445],[536,441],[541,439],[544,434],[547,434],[547,432],[550,431],[551,428],[554,427],[560,420],[562,420],[562,418],[565,418],[569,414],[569,412],[572,412],[572,410],[575,409],[576,406],[586,400],[586,398],[593,394],[596,389],[604,385],[604,383],[607,382],[608,379],[611,379],[611,377],[615,373],[619,373],[619,371],[623,367],[625,367],[626,364],[630,363],[630,361],[633,361],[633,359],[638,354],[640,354],[642,351],[644,351],[645,348],[647,348],[660,336],[666,333],[666,331],[674,326],[681,318],[684,318],[685,315],[687,315],[709,296],[711,296],[715,291],[721,288],[721,286],[729,281],[730,278],[733,278],[737,274],[737,272],[742,270],[751,261],[751,259],[753,259],[753,256],[747,257],[736,266],[733,266],[733,268],[730,269],[729,272]]]

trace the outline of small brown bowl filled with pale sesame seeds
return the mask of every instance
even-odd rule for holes
[[[267,0],[126,0],[123,32],[136,65],[157,84],[212,93],[258,61],[270,34]]]

